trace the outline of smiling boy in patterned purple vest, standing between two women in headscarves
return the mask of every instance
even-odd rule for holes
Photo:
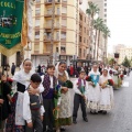
[[[44,87],[44,92],[42,95],[43,95],[43,103],[45,108],[44,121],[43,121],[44,132],[46,131],[53,132],[54,90],[57,84],[57,79],[54,76],[54,73],[55,73],[55,66],[48,65],[46,69],[46,75],[42,76],[42,81],[43,81],[43,87]]]

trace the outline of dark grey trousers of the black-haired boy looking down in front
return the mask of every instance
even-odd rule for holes
[[[42,123],[42,120],[41,120],[41,114],[40,114],[40,110],[32,110],[31,111],[32,113],[32,122],[33,122],[33,128],[28,128],[26,127],[26,130],[25,132],[43,132],[43,123]]]

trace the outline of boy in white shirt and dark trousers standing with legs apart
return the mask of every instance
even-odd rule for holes
[[[79,103],[81,106],[82,111],[82,118],[84,121],[88,122],[87,113],[86,113],[86,100],[87,100],[87,94],[88,94],[88,84],[85,80],[86,73],[85,70],[79,72],[79,78],[75,80],[74,82],[74,111],[73,111],[73,123],[77,123],[77,112],[79,108]]]

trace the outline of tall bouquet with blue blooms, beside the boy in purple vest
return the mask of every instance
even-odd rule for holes
[[[57,85],[55,87],[55,91],[54,91],[54,105],[55,105],[55,109],[53,110],[53,116],[54,119],[56,120],[58,118],[58,99],[61,98],[61,85]]]

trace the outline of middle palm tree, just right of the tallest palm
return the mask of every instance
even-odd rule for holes
[[[102,31],[102,25],[103,25],[103,21],[102,19],[98,18],[97,20],[94,20],[94,29],[96,30],[96,36],[95,36],[95,58],[96,58],[96,46],[99,47],[99,38],[100,38],[100,32]],[[98,45],[97,45],[97,34],[98,34]],[[97,48],[97,53],[98,53],[98,48]],[[98,54],[97,54],[98,56]]]

